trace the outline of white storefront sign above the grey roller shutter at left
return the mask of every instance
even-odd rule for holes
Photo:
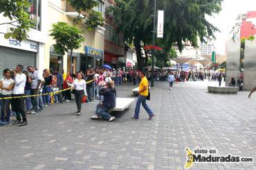
[[[30,52],[38,52],[38,43],[35,41],[24,40],[17,41],[16,39],[5,39],[3,34],[0,35],[0,45],[4,47],[12,47],[20,50],[26,50]]]

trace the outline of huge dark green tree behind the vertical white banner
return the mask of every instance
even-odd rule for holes
[[[157,9],[165,10],[164,39],[156,41],[156,45],[164,45],[164,52],[170,54],[174,43],[179,50],[183,43],[190,41],[197,47],[198,37],[201,41],[214,37],[217,28],[210,24],[205,15],[212,16],[221,10],[222,0],[158,0]],[[124,35],[124,40],[134,43],[137,52],[138,67],[144,66],[140,45],[152,43],[154,0],[116,0],[116,6],[107,10],[115,16],[118,31]],[[161,46],[161,45],[159,45]]]

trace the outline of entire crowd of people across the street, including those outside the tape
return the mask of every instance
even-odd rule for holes
[[[26,114],[38,114],[45,107],[50,107],[54,103],[71,102],[71,94],[75,96],[77,105],[77,116],[81,114],[81,106],[86,96],[86,101],[91,102],[95,99],[100,100],[93,119],[100,116],[105,120],[113,121],[115,118],[108,114],[108,110],[116,105],[115,86],[127,83],[144,83],[148,80],[151,73],[139,72],[138,70],[128,70],[123,72],[121,69],[89,69],[85,72],[71,74],[64,70],[44,70],[39,74],[36,67],[28,66],[24,70],[22,65],[17,65],[15,70],[3,70],[3,78],[0,81],[0,106],[1,121],[0,125],[10,123],[10,115],[15,114],[17,120],[13,125],[27,125]],[[154,73],[156,81],[168,81],[169,89],[173,88],[174,82],[179,81],[203,81],[208,78],[209,81],[221,81],[226,78],[225,74],[203,74],[202,72],[168,72],[158,71]],[[143,79],[144,78],[144,79]],[[239,78],[237,85],[242,88],[242,79]],[[230,86],[235,86],[235,78],[232,78]],[[148,88],[148,82],[147,82]],[[138,105],[141,103],[145,107],[149,116],[153,112],[145,104],[147,88],[141,87],[143,92],[138,98]],[[105,98],[105,100],[104,100]],[[139,106],[137,106],[138,108]],[[11,109],[12,108],[12,111]],[[138,109],[134,118],[138,117]]]

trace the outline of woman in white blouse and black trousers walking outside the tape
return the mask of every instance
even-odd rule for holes
[[[73,81],[72,89],[75,90],[75,103],[77,105],[77,116],[81,114],[81,107],[82,107],[82,98],[87,96],[86,93],[86,81],[82,77],[81,73],[77,74],[77,78]]]

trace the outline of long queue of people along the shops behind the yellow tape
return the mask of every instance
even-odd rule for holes
[[[92,101],[93,97],[100,98],[100,89],[106,83],[136,84],[139,79],[138,72],[133,70],[123,72],[120,69],[90,69],[71,75],[69,72],[64,73],[64,70],[60,72],[57,69],[54,71],[46,69],[43,74],[39,74],[37,68],[33,66],[24,69],[23,65],[17,65],[15,70],[3,70],[3,78],[0,81],[0,125],[10,124],[12,114],[17,118],[13,124],[24,126],[28,124],[26,114],[39,114],[44,107],[50,107],[53,103],[63,103],[64,100],[71,102],[71,92],[75,87],[74,83],[77,84],[77,75],[80,75],[85,82],[83,82],[85,89],[81,90],[84,91],[89,101]],[[62,89],[64,89],[63,92]],[[75,93],[74,96],[77,103],[77,115],[80,115],[82,95]]]

